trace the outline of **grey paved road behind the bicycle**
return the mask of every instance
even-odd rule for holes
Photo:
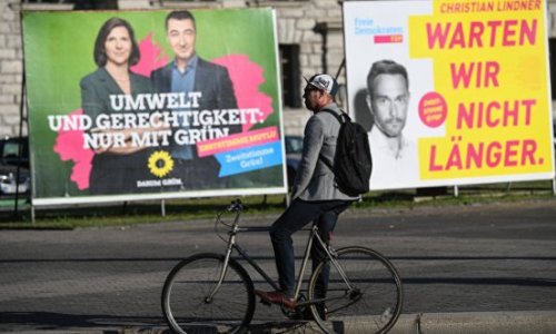
[[[241,242],[275,273],[267,234]],[[404,314],[556,311],[556,198],[349,212],[334,242],[394,259]],[[170,268],[221,247],[206,220],[0,230],[0,332],[162,327],[159,298]],[[280,320],[274,311],[258,304],[255,318]]]

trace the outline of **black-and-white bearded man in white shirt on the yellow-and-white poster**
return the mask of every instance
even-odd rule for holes
[[[404,135],[409,102],[406,68],[393,60],[373,63],[367,76],[367,105],[375,119],[369,132],[373,188],[393,188],[418,179],[417,146]]]

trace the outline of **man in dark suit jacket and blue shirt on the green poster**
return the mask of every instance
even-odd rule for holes
[[[151,80],[158,92],[178,92],[199,96],[198,104],[190,110],[201,111],[236,109],[237,101],[228,70],[201,59],[196,51],[197,27],[195,17],[187,10],[172,11],[166,18],[166,32],[175,59],[167,66],[152,71]],[[240,125],[221,127],[228,135],[239,132]],[[181,188],[206,189],[226,187],[226,179],[218,176],[220,166],[214,157],[199,158],[195,144],[171,147],[175,160],[172,176],[181,179]]]

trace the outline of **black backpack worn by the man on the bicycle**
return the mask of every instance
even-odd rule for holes
[[[324,109],[340,122],[340,130],[336,141],[334,165],[321,157],[335,175],[338,188],[349,196],[359,196],[369,190],[373,158],[370,156],[369,138],[365,128],[351,121],[346,112],[341,116]],[[344,120],[342,120],[344,118]]]

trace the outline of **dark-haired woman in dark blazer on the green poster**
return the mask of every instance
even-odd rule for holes
[[[130,71],[140,53],[129,22],[120,18],[106,21],[97,36],[93,57],[98,69],[80,82],[83,114],[96,125],[102,115],[139,111],[117,111],[110,102],[110,96],[152,92],[149,78]],[[91,194],[133,193],[138,190],[137,181],[148,176],[149,150],[131,145],[132,131],[136,129],[99,129],[95,126],[89,131],[99,144],[92,159]]]

